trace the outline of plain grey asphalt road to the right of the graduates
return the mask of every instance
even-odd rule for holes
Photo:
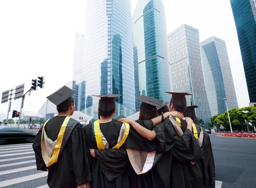
[[[221,188],[256,188],[256,139],[210,138]]]

